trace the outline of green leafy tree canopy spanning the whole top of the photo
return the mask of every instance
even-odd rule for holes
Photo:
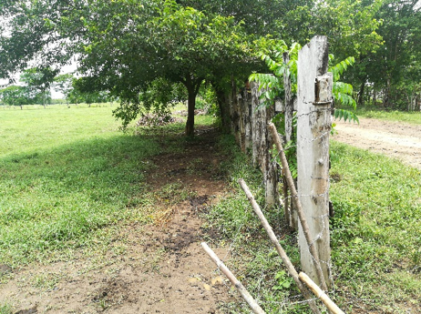
[[[265,71],[257,57],[263,48],[279,39],[303,45],[313,35],[327,35],[337,59],[355,57],[344,80],[359,86],[360,103],[366,87],[375,86],[371,92],[395,104],[402,101],[399,91],[413,93],[421,78],[416,2],[5,0],[0,4],[5,21],[0,77],[27,67],[58,71],[76,58],[89,88],[108,90],[121,100],[115,115],[124,124],[144,107],[186,97],[191,135],[203,81],[221,100],[232,80]],[[159,101],[150,101],[150,90]]]

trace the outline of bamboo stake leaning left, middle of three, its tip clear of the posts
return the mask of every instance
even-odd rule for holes
[[[315,304],[313,300],[313,296],[311,295],[310,291],[303,285],[303,283],[298,278],[298,273],[293,267],[293,263],[291,262],[290,258],[286,255],[285,251],[283,250],[281,244],[279,243],[278,239],[276,238],[271,225],[269,225],[268,220],[264,217],[262,213],[262,209],[259,207],[259,204],[257,204],[256,200],[252,196],[252,192],[250,191],[249,187],[247,187],[244,180],[241,178],[238,180],[240,183],[245,195],[249,199],[250,203],[252,204],[252,208],[256,215],[259,217],[259,219],[262,222],[263,228],[266,230],[269,238],[271,239],[273,245],[275,246],[276,250],[278,251],[278,254],[281,256],[283,263],[285,264],[286,268],[288,269],[288,273],[291,277],[293,277],[293,280],[298,286],[298,289],[303,293],[304,299],[306,299],[309,303],[310,309],[313,310],[313,313],[320,314],[320,310],[317,308],[317,305]]]

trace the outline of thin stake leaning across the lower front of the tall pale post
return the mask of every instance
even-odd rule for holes
[[[273,138],[273,141],[275,142],[276,149],[278,149],[279,155],[281,157],[282,169],[285,170],[284,174],[288,182],[288,187],[290,187],[291,196],[293,197],[293,202],[295,204],[295,207],[297,208],[298,217],[300,218],[301,226],[303,228],[303,234],[304,234],[305,240],[307,241],[307,245],[310,249],[310,253],[313,256],[313,263],[316,269],[316,275],[320,281],[320,285],[322,286],[322,289],[324,291],[327,291],[326,282],[324,281],[324,278],[323,278],[322,267],[320,265],[319,254],[317,253],[317,248],[313,245],[313,239],[310,236],[310,229],[308,227],[307,220],[305,219],[303,207],[301,205],[300,198],[298,198],[297,190],[295,188],[295,185],[293,184],[293,176],[291,175],[290,167],[288,166],[285,153],[283,152],[283,147],[278,135],[278,131],[276,130],[276,127],[272,124],[272,122],[269,123],[268,128],[272,134],[272,138]]]

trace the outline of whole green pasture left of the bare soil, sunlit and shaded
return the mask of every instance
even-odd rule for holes
[[[145,219],[151,137],[118,131],[111,109],[48,106],[0,115],[0,263],[84,246],[95,230]]]

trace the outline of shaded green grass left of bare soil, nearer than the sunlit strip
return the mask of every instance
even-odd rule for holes
[[[121,219],[146,220],[149,158],[183,140],[161,131],[0,158],[0,263],[83,246]]]

